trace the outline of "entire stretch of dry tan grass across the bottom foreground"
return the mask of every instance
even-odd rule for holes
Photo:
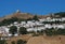
[[[31,35],[25,34],[20,36],[13,36],[11,38],[11,40],[8,40],[6,42],[11,44],[12,41],[17,42],[17,40],[27,41],[27,44],[65,44],[65,35],[31,36]]]

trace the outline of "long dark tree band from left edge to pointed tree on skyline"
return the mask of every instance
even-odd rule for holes
[[[28,18],[28,19],[22,19],[22,18],[17,18],[17,17],[12,17],[9,19],[3,19],[2,21],[0,21],[0,26],[8,26],[10,24],[13,24],[14,21],[27,21],[27,20],[38,20],[38,16],[35,15],[32,18]]]

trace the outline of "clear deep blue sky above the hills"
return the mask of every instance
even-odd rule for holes
[[[48,15],[65,12],[65,0],[0,0],[0,17],[15,13]]]

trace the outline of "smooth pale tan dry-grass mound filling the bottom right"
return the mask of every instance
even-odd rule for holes
[[[65,44],[65,35],[57,36],[34,36],[27,44]]]

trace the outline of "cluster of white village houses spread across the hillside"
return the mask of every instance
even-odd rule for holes
[[[8,25],[8,26],[1,26],[0,27],[0,33],[3,33],[3,35],[8,35],[11,36],[12,34],[9,33],[9,29],[11,26],[16,26],[17,30],[20,29],[20,27],[25,27],[27,29],[27,31],[37,31],[37,30],[44,30],[47,28],[61,28],[61,29],[65,29],[65,24],[42,24],[43,21],[55,21],[55,20],[60,20],[60,21],[65,21],[65,17],[62,18],[51,18],[51,17],[47,17],[43,19],[39,19],[38,20],[28,20],[26,21],[21,21],[21,24],[18,24],[17,21]],[[15,34],[17,35],[17,33]]]

